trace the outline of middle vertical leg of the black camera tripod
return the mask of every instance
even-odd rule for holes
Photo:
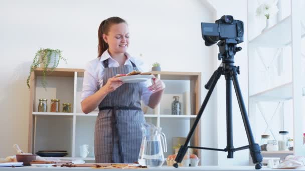
[[[227,110],[227,158],[233,158],[233,129],[232,129],[232,79],[230,75],[226,77],[226,110]]]

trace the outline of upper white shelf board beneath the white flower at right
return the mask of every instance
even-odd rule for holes
[[[305,36],[301,29],[301,37]],[[250,44],[261,47],[283,47],[291,43],[291,16],[287,16],[266,31],[249,41]]]

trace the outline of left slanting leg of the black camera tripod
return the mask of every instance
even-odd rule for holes
[[[177,161],[177,163],[174,163],[173,166],[176,167],[176,168],[178,167],[178,163],[182,161],[185,153],[187,152],[188,144],[189,144],[189,142],[191,140],[191,137],[192,137],[192,135],[193,135],[193,133],[195,131],[195,128],[196,128],[196,126],[197,126],[197,124],[198,124],[198,122],[200,120],[200,117],[201,117],[201,115],[202,115],[202,113],[203,113],[203,111],[204,111],[204,109],[205,109],[205,107],[206,107],[206,105],[207,105],[207,103],[209,101],[209,98],[210,98],[210,96],[211,96],[211,94],[213,92],[213,89],[214,89],[218,79],[221,76],[222,69],[223,69],[222,66],[218,67],[217,70],[215,71],[216,73],[214,72],[214,74],[212,75],[212,77],[214,77],[214,78],[212,78],[212,77],[210,78],[210,80],[213,80],[213,81],[212,81],[212,84],[211,84],[211,86],[209,88],[209,91],[208,91],[206,97],[203,100],[203,103],[202,103],[202,105],[201,105],[201,107],[200,107],[200,109],[198,111],[197,116],[196,116],[196,120],[195,120],[195,122],[194,122],[194,124],[193,124],[193,126],[192,126],[192,128],[191,128],[191,130],[190,130],[190,132],[188,134],[188,136],[187,136],[187,139],[186,139],[184,145],[181,145],[181,147],[180,147],[180,149],[179,149],[179,151],[177,153],[177,156],[175,158],[175,161]]]

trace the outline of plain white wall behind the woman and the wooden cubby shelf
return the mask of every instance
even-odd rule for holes
[[[40,47],[59,48],[68,60],[60,67],[83,68],[97,56],[97,29],[110,16],[129,23],[129,52],[143,54],[145,70],[158,61],[162,70],[200,71],[202,81],[207,81],[214,58],[202,40],[200,22],[214,19],[199,0],[2,0],[0,157],[15,154],[14,143],[27,148],[26,78],[35,52]],[[213,164],[213,159],[206,156],[203,163]]]

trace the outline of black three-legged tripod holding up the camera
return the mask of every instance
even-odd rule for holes
[[[239,74],[239,66],[236,67],[234,65],[234,55],[237,51],[241,50],[241,47],[236,46],[237,42],[235,39],[224,39],[221,40],[217,43],[220,49],[220,53],[218,53],[218,59],[222,59],[222,64],[217,68],[217,70],[214,71],[213,75],[205,85],[206,89],[208,90],[208,93],[199,109],[199,112],[197,114],[196,120],[187,136],[187,139],[184,143],[184,145],[181,145],[177,157],[175,160],[177,163],[174,163],[174,167],[178,167],[178,162],[181,162],[187,149],[188,148],[197,148],[197,149],[208,149],[208,150],[216,150],[216,151],[225,151],[228,152],[227,158],[233,158],[233,152],[237,150],[242,150],[242,149],[247,149],[249,148],[250,154],[252,157],[252,161],[255,164],[256,169],[261,168],[261,161],[262,161],[262,156],[260,154],[260,146],[255,143],[248,115],[247,115],[247,110],[242,98],[242,94],[240,91],[240,86],[237,80],[237,74]],[[195,128],[199,122],[199,119],[208,103],[208,100],[212,94],[212,91],[220,78],[221,75],[225,75],[226,78],[226,119],[227,119],[227,146],[224,149],[219,149],[219,148],[208,148],[208,147],[198,147],[198,146],[188,146],[189,141],[191,139],[192,134],[195,131]],[[243,123],[246,129],[246,134],[248,138],[249,145],[241,146],[238,148],[233,147],[233,131],[232,131],[232,81],[234,85],[234,89],[236,92],[239,108],[241,111],[241,116],[243,119]]]

